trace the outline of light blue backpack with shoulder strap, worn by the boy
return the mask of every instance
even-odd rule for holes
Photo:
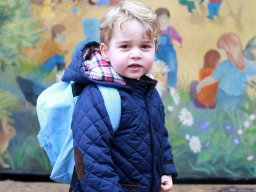
[[[116,88],[97,85],[103,96],[113,130],[119,127],[121,99]],[[38,141],[45,149],[53,170],[50,178],[70,184],[74,170],[74,149],[71,130],[72,114],[85,85],[74,82],[55,83],[37,99],[36,112],[40,123]]]

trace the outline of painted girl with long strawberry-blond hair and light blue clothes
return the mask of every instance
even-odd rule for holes
[[[246,83],[252,75],[256,75],[256,65],[242,55],[242,43],[236,34],[225,33],[217,45],[228,60],[221,62],[210,76],[198,84],[197,93],[219,81],[216,105],[224,110],[236,110],[245,105]]]

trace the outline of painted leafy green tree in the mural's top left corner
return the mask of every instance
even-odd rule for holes
[[[33,48],[40,40],[35,30],[38,20],[31,19],[30,1],[0,1],[0,71],[17,65],[20,48]]]

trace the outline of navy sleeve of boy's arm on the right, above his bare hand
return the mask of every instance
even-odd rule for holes
[[[164,107],[161,107],[161,114],[163,114],[163,122],[165,118]],[[177,170],[173,162],[173,152],[171,144],[168,141],[168,131],[165,126],[162,126],[162,131],[164,133],[164,165],[162,175],[172,175],[172,177],[177,177]]]

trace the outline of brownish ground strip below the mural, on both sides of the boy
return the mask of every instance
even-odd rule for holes
[[[0,191],[4,192],[62,192],[69,185],[59,183],[30,183],[0,181]],[[256,192],[256,185],[174,185],[173,192]]]

